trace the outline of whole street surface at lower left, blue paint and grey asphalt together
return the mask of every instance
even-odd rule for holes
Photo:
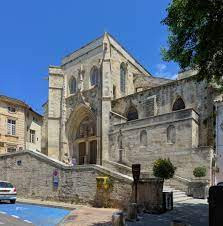
[[[69,210],[31,204],[0,203],[0,225],[57,225]]]

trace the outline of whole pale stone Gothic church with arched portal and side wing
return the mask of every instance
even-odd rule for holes
[[[110,34],[49,67],[42,152],[77,164],[131,166],[170,158],[176,175],[206,166],[211,179],[214,100],[195,76],[153,77]]]

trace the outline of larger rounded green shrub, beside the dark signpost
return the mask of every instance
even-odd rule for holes
[[[170,179],[174,176],[176,167],[169,159],[157,159],[153,164],[153,175],[162,179]]]

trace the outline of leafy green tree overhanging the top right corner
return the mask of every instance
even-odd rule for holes
[[[167,7],[168,47],[163,59],[179,63],[182,70],[195,69],[223,87],[223,1],[172,0]]]

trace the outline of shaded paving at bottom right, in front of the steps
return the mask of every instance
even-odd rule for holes
[[[191,226],[208,226],[207,200],[191,199],[177,203],[172,211],[161,215],[145,214],[138,222],[127,222],[128,226],[170,226],[171,221],[181,220]]]

